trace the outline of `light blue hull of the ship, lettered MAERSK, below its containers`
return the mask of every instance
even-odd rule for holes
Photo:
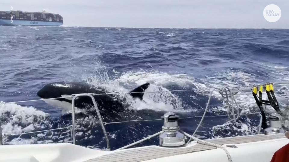
[[[34,21],[34,20],[13,20],[0,19],[0,25],[29,25],[29,26],[60,26],[63,22],[47,22],[47,21]]]

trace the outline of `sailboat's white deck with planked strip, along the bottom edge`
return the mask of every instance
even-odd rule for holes
[[[289,143],[280,136],[252,135],[206,140],[227,146],[233,162],[270,161],[274,152]],[[70,143],[4,145],[0,146],[1,162],[203,162],[228,161],[224,150],[192,142],[187,147],[163,148],[146,146],[117,151],[102,151],[76,146]]]

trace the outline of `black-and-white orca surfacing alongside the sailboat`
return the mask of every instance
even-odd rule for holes
[[[129,92],[129,95],[133,98],[139,98],[143,100],[143,93],[148,87],[150,83],[145,83],[143,85],[138,86],[137,88],[133,89]],[[133,93],[134,92],[134,93]],[[135,93],[141,92],[141,93]],[[92,85],[89,85],[85,82],[52,82],[46,84],[42,89],[37,92],[37,96],[42,99],[47,98],[57,98],[51,100],[44,100],[46,103],[61,107],[64,110],[72,110],[72,97],[69,97],[73,94],[79,93],[95,93],[95,94],[107,94],[108,95],[94,95],[95,101],[98,104],[98,109],[101,113],[103,118],[109,118],[109,121],[117,120],[117,116],[125,115],[126,110],[125,108],[129,106],[126,98],[123,96],[117,96],[116,94],[109,94],[106,89],[104,88],[94,88]],[[61,97],[68,97],[68,98],[61,98]],[[91,112],[95,112],[92,108],[92,100],[90,97],[83,96],[78,97],[75,99],[75,107],[78,109],[87,109],[91,110]],[[114,119],[112,119],[114,118]]]

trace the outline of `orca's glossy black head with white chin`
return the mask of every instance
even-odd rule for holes
[[[82,82],[52,82],[46,84],[36,94],[42,99],[56,98],[44,100],[46,103],[61,107],[66,110],[72,109],[72,94],[91,93],[91,87]],[[61,98],[66,97],[66,98]]]

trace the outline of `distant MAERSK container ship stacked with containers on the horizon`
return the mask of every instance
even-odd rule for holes
[[[60,26],[62,24],[62,16],[45,10],[42,12],[0,11],[0,25]]]

